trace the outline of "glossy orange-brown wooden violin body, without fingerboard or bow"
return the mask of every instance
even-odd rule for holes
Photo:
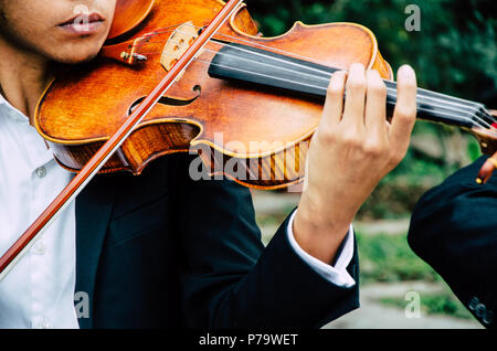
[[[180,7],[165,0],[142,3],[141,12],[123,11],[127,15],[135,13],[139,24],[119,20],[124,15],[116,14],[119,28],[113,28],[102,54],[64,72],[40,100],[35,127],[66,169],[81,170],[166,75],[160,53],[163,59],[172,32],[152,39],[147,34],[187,22],[201,28],[223,6],[219,0],[189,0]],[[307,57],[336,68],[346,70],[361,62],[385,79],[393,77],[373,34],[353,23],[297,22],[284,35],[263,38],[242,6],[215,38],[220,42],[226,38],[231,42],[240,40],[251,47],[264,45],[275,53],[298,53],[295,59]],[[136,40],[141,40],[140,54],[147,60],[129,65],[124,62],[125,55],[116,53],[121,52],[123,43]],[[220,42],[208,43],[101,172],[125,170],[139,174],[158,157],[194,151],[209,173],[228,176],[247,187],[277,189],[302,181],[303,161],[320,120],[324,99],[212,77],[209,63],[222,50]]]

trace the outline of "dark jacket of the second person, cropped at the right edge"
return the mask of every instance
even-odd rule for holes
[[[409,244],[485,326],[496,328],[497,174],[475,182],[486,157],[430,190],[411,220]]]

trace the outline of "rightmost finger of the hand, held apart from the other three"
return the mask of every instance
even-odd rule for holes
[[[399,68],[398,96],[390,128],[390,143],[406,150],[416,118],[416,75],[408,65]]]

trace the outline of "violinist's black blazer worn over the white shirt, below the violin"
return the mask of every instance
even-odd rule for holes
[[[294,253],[288,219],[264,249],[250,191],[192,181],[190,160],[98,176],[77,198],[82,328],[317,328],[359,306],[357,254],[341,288]]]

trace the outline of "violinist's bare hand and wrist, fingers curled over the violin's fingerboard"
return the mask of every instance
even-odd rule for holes
[[[343,92],[347,98],[343,107]],[[294,221],[303,249],[326,263],[380,180],[404,158],[416,116],[416,77],[398,73],[398,103],[387,120],[387,87],[377,71],[353,64],[332,75],[319,126],[310,141],[306,187]]]

